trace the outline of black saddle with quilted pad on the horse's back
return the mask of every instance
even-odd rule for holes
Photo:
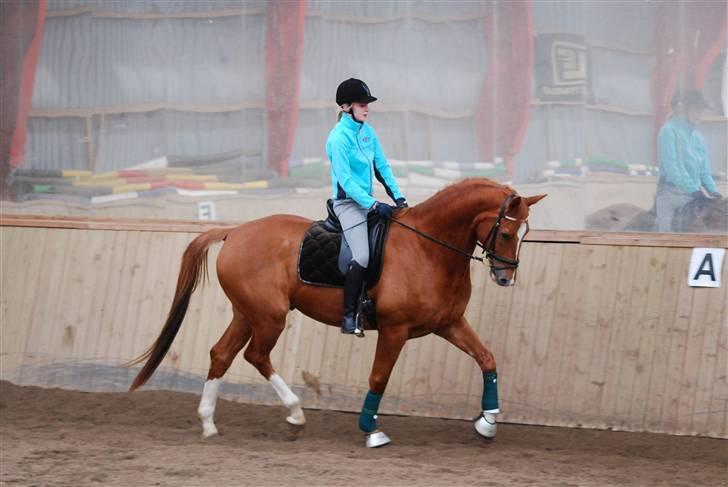
[[[313,286],[344,287],[344,274],[351,262],[351,249],[342,238],[341,223],[334,213],[334,202],[326,202],[328,217],[313,222],[301,242],[298,253],[298,277]],[[373,288],[382,273],[384,245],[389,230],[389,220],[370,213],[369,266],[364,289]]]

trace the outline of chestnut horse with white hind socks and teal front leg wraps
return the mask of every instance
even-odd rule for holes
[[[484,391],[475,429],[485,437],[495,436],[495,415],[499,412],[495,359],[464,317],[471,290],[470,260],[489,261],[491,278],[498,285],[514,284],[529,206],[544,196],[521,197],[494,181],[468,179],[442,189],[421,204],[395,212],[381,277],[370,291],[376,302],[378,338],[370,390],[359,416],[367,446],[389,442],[377,430],[379,402],[405,342],[429,333],[449,341],[477,362],[483,372]],[[130,391],[143,385],[159,366],[182,324],[190,296],[204,276],[208,248],[224,241],[217,258],[217,275],[232,302],[233,317],[210,350],[210,369],[198,409],[203,436],[217,434],[213,415],[220,380],[248,343],[245,360],[270,382],[289,409],[286,420],[304,424],[299,399],[275,373],[270,352],[292,309],[331,326],[339,326],[341,321],[342,290],[308,285],[297,275],[301,239],[310,224],[311,220],[298,216],[273,215],[234,228],[213,229],[195,238],[182,257],[177,289],[161,334],[132,362],[146,360]],[[484,257],[472,255],[476,245],[483,248]]]

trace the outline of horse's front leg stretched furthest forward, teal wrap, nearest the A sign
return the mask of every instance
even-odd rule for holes
[[[435,333],[473,357],[478,363],[483,372],[483,397],[480,404],[482,412],[475,421],[475,430],[486,438],[495,437],[495,415],[500,412],[500,409],[498,407],[498,374],[493,354],[483,345],[465,317]]]

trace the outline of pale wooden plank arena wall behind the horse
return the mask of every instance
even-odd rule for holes
[[[182,252],[210,226],[0,223],[0,378],[88,391],[126,390],[138,368],[123,364],[156,338]],[[728,238],[532,231],[513,288],[473,264],[467,317],[498,361],[501,421],[728,438],[728,287],[725,278],[718,289],[687,286],[691,247],[725,248]],[[231,317],[215,276],[218,249],[147,387],[201,391],[208,351]],[[341,336],[293,312],[273,364],[304,407],[358,411],[376,336]],[[481,391],[475,362],[428,336],[405,346],[381,412],[472,418]],[[222,395],[279,404],[242,354]]]

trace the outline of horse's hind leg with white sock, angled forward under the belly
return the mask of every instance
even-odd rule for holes
[[[288,387],[288,384],[286,384],[283,378],[276,374],[270,362],[270,352],[273,350],[284,328],[285,315],[280,320],[257,323],[253,332],[253,338],[250,341],[250,346],[245,349],[244,357],[245,360],[258,369],[258,372],[270,382],[273,390],[281,398],[283,405],[288,408],[290,414],[286,418],[286,421],[290,424],[300,426],[306,423],[306,417],[303,414],[303,409],[301,409],[301,401],[290,387]]]

